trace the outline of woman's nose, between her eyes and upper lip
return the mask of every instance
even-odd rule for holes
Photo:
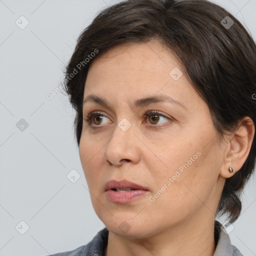
[[[110,165],[120,166],[124,162],[136,164],[140,159],[141,141],[131,125],[126,131],[116,125],[112,137],[106,144],[104,158]]]

